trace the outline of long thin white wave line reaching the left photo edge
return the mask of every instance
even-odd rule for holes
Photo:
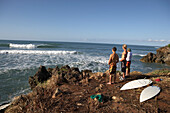
[[[76,51],[0,50],[1,54],[75,54]]]

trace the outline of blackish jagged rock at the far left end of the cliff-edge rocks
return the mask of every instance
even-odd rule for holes
[[[50,73],[46,70],[45,66],[40,66],[38,72],[32,77],[29,77],[29,84],[31,89],[35,88],[38,83],[43,83],[51,77]]]

